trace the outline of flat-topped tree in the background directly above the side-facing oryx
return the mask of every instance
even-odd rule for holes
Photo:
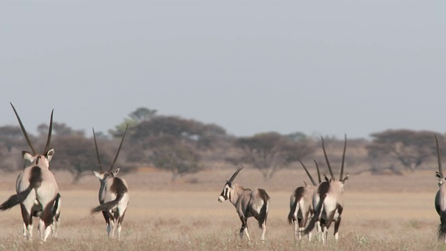
[[[312,142],[293,141],[290,137],[280,135],[277,132],[265,132],[252,137],[240,137],[235,145],[243,150],[243,155],[234,160],[233,164],[245,162],[259,169],[263,178],[267,181],[275,172],[289,166],[297,158],[304,158],[314,153]],[[236,163],[238,162],[238,163]]]

